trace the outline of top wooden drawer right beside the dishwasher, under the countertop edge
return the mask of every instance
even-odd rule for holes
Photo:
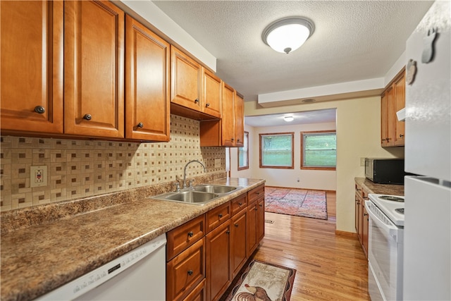
[[[198,216],[166,234],[166,260],[171,260],[205,235],[205,216]]]

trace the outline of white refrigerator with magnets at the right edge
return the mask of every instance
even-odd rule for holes
[[[406,42],[404,300],[451,300],[451,8]]]

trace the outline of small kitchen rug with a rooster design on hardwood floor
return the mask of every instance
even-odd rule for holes
[[[295,269],[252,260],[225,301],[289,301]]]

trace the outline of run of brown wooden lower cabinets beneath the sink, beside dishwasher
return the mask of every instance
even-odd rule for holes
[[[219,300],[264,237],[264,185],[166,237],[166,300]]]

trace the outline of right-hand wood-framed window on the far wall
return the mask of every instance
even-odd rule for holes
[[[301,169],[335,171],[337,136],[335,130],[301,132]]]

